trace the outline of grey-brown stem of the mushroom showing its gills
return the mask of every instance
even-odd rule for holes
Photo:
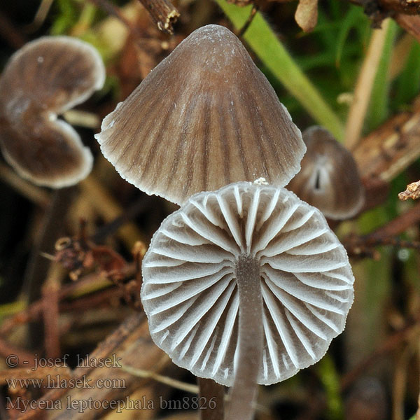
[[[239,353],[226,420],[251,420],[262,358],[260,265],[251,255],[241,255],[235,272],[239,290]]]

